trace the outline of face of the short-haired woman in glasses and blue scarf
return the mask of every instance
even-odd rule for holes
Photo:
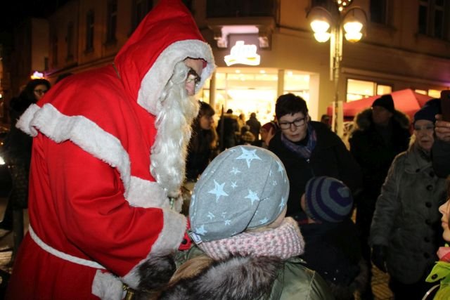
[[[278,125],[281,132],[291,142],[300,142],[307,136],[307,123],[309,121],[308,115],[303,115],[302,112],[296,112],[293,115],[283,115],[278,119]]]

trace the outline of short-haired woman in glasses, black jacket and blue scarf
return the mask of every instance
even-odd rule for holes
[[[359,165],[326,124],[311,121],[301,97],[292,93],[278,97],[275,114],[280,130],[271,139],[269,150],[280,157],[290,181],[287,216],[306,223],[300,200],[309,179],[338,178],[354,193],[361,187]]]

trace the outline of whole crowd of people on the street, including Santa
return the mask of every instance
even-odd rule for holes
[[[195,98],[214,67],[191,13],[162,0],[112,65],[11,100],[0,226],[23,233],[28,207],[30,228],[7,299],[370,300],[372,264],[395,299],[450,295],[440,99],[410,122],[380,96],[346,145],[293,93],[266,124],[217,114]]]

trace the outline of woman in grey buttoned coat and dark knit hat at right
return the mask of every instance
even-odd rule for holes
[[[422,299],[443,244],[439,206],[447,199],[446,181],[435,174],[430,158],[439,108],[440,100],[432,99],[414,115],[409,149],[392,162],[373,214],[372,261],[390,275],[395,299]]]

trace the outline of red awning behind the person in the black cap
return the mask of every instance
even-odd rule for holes
[[[394,99],[394,107],[396,110],[404,112],[413,119],[413,115],[419,110],[420,107],[425,105],[425,103],[431,99],[430,96],[423,95],[421,93],[416,93],[411,89],[405,89],[401,91],[394,91],[391,93],[392,99]],[[372,96],[364,98],[361,100],[355,100],[352,102],[344,103],[344,117],[348,119],[349,117],[354,117],[361,110],[365,110],[372,106],[375,99],[380,98],[380,96]],[[333,107],[327,107],[327,115],[333,115]]]

